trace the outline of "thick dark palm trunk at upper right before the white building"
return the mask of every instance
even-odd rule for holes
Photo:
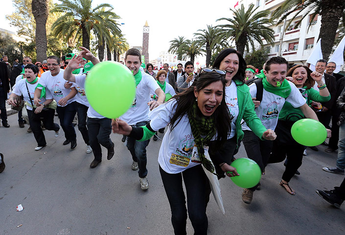
[[[340,2],[334,0],[322,0],[321,5],[321,28],[319,39],[322,39],[321,48],[323,59],[328,60],[334,45],[338,23],[344,11],[344,3],[340,4]],[[316,44],[316,42],[314,44]]]

